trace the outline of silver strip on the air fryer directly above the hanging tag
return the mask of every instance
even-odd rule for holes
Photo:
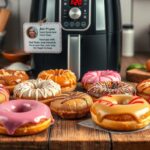
[[[49,22],[55,22],[56,0],[47,0],[46,19]]]

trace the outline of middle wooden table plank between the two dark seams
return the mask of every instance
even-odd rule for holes
[[[81,121],[81,120],[80,120]],[[50,150],[109,150],[108,133],[79,126],[78,121],[57,120],[50,133]]]

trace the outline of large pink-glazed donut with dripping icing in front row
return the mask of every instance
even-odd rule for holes
[[[12,100],[0,105],[0,134],[31,135],[54,123],[47,105],[33,100]]]

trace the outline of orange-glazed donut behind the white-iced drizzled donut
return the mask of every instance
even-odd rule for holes
[[[77,78],[70,70],[55,69],[45,70],[39,73],[38,78],[48,80],[51,79],[61,86],[62,92],[70,92],[75,90],[77,86]]]

